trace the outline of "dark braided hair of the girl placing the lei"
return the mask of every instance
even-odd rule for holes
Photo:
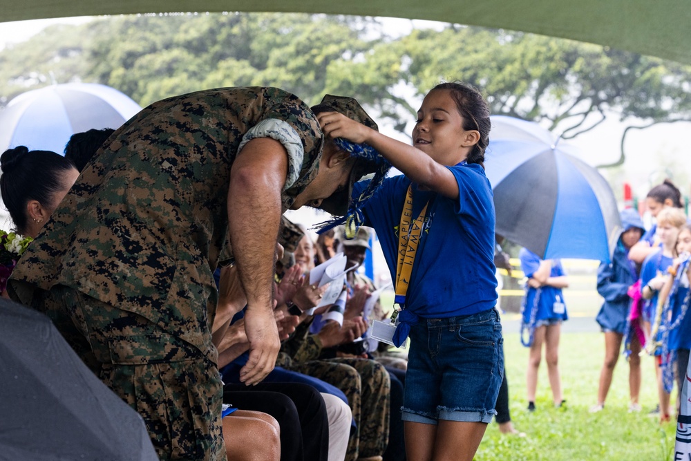
[[[480,132],[480,140],[473,146],[466,162],[480,164],[484,169],[484,151],[489,144],[489,130],[492,124],[489,120],[489,106],[482,93],[475,86],[458,81],[440,83],[432,88],[430,93],[435,90],[451,91],[458,113],[463,117],[463,129]]]

